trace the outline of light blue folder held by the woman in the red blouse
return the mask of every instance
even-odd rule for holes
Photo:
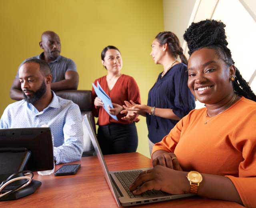
[[[102,100],[104,106],[103,108],[106,110],[106,112],[112,117],[114,118],[115,120],[118,120],[118,118],[114,115],[111,115],[109,112],[108,112],[108,106],[110,106],[110,108],[113,108],[113,105],[112,105],[112,101],[110,99],[110,97],[106,94],[106,92],[102,89],[102,87],[100,86],[99,82],[97,82],[97,86],[95,86],[95,84],[92,83],[92,86],[97,94],[97,96],[100,98],[100,100]]]

